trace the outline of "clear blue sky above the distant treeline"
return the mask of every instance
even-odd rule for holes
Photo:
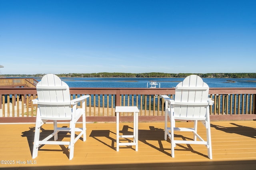
[[[0,0],[1,74],[256,71],[256,0]]]

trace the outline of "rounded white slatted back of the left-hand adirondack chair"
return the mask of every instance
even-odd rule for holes
[[[36,90],[41,119],[71,120],[70,92],[65,82],[54,74],[47,74],[38,82]]]

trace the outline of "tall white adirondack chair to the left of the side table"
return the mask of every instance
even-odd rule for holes
[[[70,100],[69,87],[54,74],[46,74],[36,85],[38,99],[33,100],[33,104],[38,104],[36,115],[36,129],[34,136],[34,147],[32,158],[38,155],[40,145],[68,145],[70,149],[69,159],[74,156],[74,144],[83,135],[83,141],[86,141],[86,118],[85,118],[85,100],[88,95]],[[78,102],[82,102],[82,108],[77,108]],[[73,107],[72,107],[73,106]],[[76,128],[76,122],[82,116],[83,127]],[[48,120],[53,121],[54,132],[43,140],[39,140],[40,127]],[[57,121],[68,120],[70,127],[57,127]],[[71,133],[70,141],[57,141],[58,132],[66,131]],[[75,137],[75,132],[80,133]],[[54,137],[54,141],[48,141]]]

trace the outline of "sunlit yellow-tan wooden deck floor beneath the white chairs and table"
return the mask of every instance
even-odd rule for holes
[[[60,124],[66,126],[67,124]],[[177,125],[193,126],[192,122]],[[122,133],[132,132],[132,123],[120,123]],[[78,127],[82,127],[78,124]],[[66,146],[45,145],[32,159],[34,124],[0,124],[1,169],[256,169],[256,121],[212,121],[213,159],[201,145],[177,145],[170,155],[170,140],[164,141],[164,122],[139,122],[138,152],[120,147],[116,152],[116,123],[87,123],[87,140],[75,144],[74,158],[68,159]],[[42,126],[42,134],[52,132],[52,124]],[[199,123],[199,134],[205,134]],[[182,137],[176,135],[176,137]],[[206,137],[206,135],[202,135]],[[188,133],[186,139],[192,138]],[[59,139],[67,140],[62,133]]]

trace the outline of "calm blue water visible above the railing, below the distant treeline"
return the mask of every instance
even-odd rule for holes
[[[184,78],[61,78],[70,87],[146,88],[156,81],[161,88],[175,87]],[[37,79],[40,81],[40,79]],[[203,78],[209,87],[256,87],[256,78]],[[148,85],[150,86],[150,85]]]

